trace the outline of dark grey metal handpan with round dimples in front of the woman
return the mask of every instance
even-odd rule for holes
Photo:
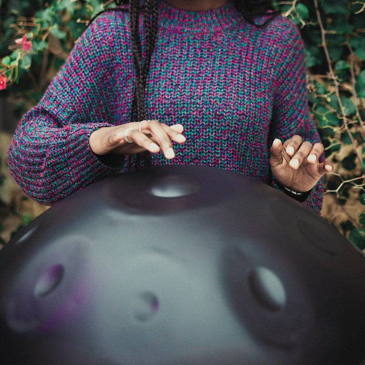
[[[0,362],[360,363],[365,261],[251,178],[163,166],[98,181],[0,251]]]

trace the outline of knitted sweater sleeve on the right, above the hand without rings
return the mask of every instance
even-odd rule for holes
[[[271,121],[270,140],[283,142],[298,134],[311,143],[320,142],[319,134],[309,113],[304,46],[298,28],[289,20],[282,19],[287,31],[278,43],[281,56],[276,68],[274,84],[274,106]],[[279,51],[278,51],[279,52]],[[321,161],[323,157],[321,157]],[[275,179],[272,186],[280,190]],[[323,194],[323,178],[312,189],[305,205],[320,213]]]

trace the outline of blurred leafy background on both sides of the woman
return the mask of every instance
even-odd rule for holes
[[[311,114],[335,167],[326,175],[321,214],[365,249],[365,0],[274,5],[301,31]],[[7,169],[17,123],[40,100],[91,17],[113,6],[0,0],[0,247],[47,209],[27,198]]]

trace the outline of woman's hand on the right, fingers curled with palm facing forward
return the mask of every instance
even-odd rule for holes
[[[333,170],[331,162],[319,162],[322,143],[303,141],[295,135],[284,143],[275,139],[271,147],[270,166],[275,179],[284,187],[298,192],[311,190],[318,180]]]

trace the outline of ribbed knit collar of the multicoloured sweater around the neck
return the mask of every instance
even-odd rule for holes
[[[221,8],[208,11],[187,11],[174,8],[164,0],[158,0],[159,25],[172,32],[186,34],[216,33],[233,27],[241,14],[233,5],[233,0]]]

